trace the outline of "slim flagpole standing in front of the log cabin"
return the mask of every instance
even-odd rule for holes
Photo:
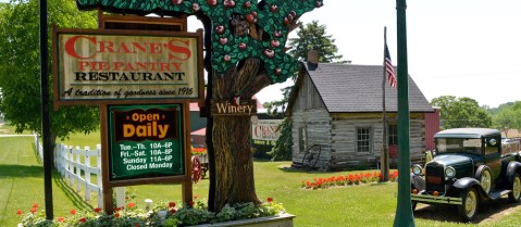
[[[380,172],[382,173],[382,180],[389,180],[389,153],[387,152],[387,116],[385,112],[385,76],[386,76],[386,66],[385,66],[385,46],[387,43],[387,27],[384,26],[384,61],[383,61],[383,77],[382,77],[382,157]]]

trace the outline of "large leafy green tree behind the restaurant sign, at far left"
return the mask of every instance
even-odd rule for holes
[[[48,7],[49,28],[52,23],[59,27],[97,25],[96,14],[79,12],[73,1],[49,1]],[[41,134],[38,13],[37,0],[15,0],[0,5],[0,112],[15,126],[16,133],[34,130]],[[49,43],[51,41],[49,38]],[[49,59],[52,59],[50,53],[52,51],[49,51]],[[46,67],[51,68],[51,65]],[[49,81],[52,81],[51,75]],[[52,91],[52,88],[49,90]],[[64,106],[51,112],[52,146],[57,137],[97,129],[97,110],[91,106]]]

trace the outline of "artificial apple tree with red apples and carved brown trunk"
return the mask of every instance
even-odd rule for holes
[[[303,13],[322,7],[322,0],[76,0],[84,10],[133,12],[146,15],[196,14],[207,37],[206,68],[209,97],[215,101],[251,100],[262,88],[285,81],[298,63],[285,53],[288,34]],[[211,63],[211,65],[209,64]],[[213,73],[214,72],[214,73]],[[209,100],[207,100],[209,103]],[[225,204],[259,204],[253,180],[248,116],[213,116],[211,137],[210,210]],[[208,141],[208,140],[207,140]],[[212,162],[213,161],[213,162]],[[214,164],[215,173],[212,173]],[[214,187],[214,190],[212,188]]]

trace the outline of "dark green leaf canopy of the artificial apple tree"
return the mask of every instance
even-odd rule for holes
[[[107,9],[110,11],[151,11],[162,10],[170,12],[194,13],[193,4],[200,5],[199,11],[212,20],[212,65],[216,73],[224,73],[237,62],[247,58],[260,58],[264,62],[264,71],[273,83],[285,81],[293,76],[297,68],[297,61],[283,51],[288,35],[288,26],[295,23],[303,13],[322,5],[322,0],[265,0],[264,5],[258,5],[257,0],[77,0],[79,9]],[[256,37],[256,34],[246,31],[246,35],[234,34],[233,30],[243,29],[233,25],[233,15],[241,16],[247,22],[247,29],[264,33],[266,39]],[[218,33],[215,28],[223,26],[224,31]],[[276,31],[276,34],[275,34]],[[247,37],[245,40],[244,37]],[[227,38],[226,43],[220,42]],[[278,40],[274,47],[270,42]],[[239,45],[245,43],[246,49]],[[274,51],[274,55],[264,50]],[[281,68],[278,72],[275,70]]]

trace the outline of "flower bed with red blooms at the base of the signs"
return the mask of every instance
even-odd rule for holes
[[[253,205],[253,203],[225,205],[220,213],[208,211],[207,205],[201,201],[189,202],[181,207],[175,202],[159,202],[149,212],[138,209],[136,203],[131,202],[125,207],[115,209],[111,215],[102,213],[101,209],[71,210],[66,216],[59,216],[52,220],[46,219],[45,211],[38,211],[38,204],[34,204],[25,215],[22,211],[16,212],[23,215],[20,227],[176,227],[270,217],[284,213],[282,204],[274,202],[271,198],[260,205]]]

